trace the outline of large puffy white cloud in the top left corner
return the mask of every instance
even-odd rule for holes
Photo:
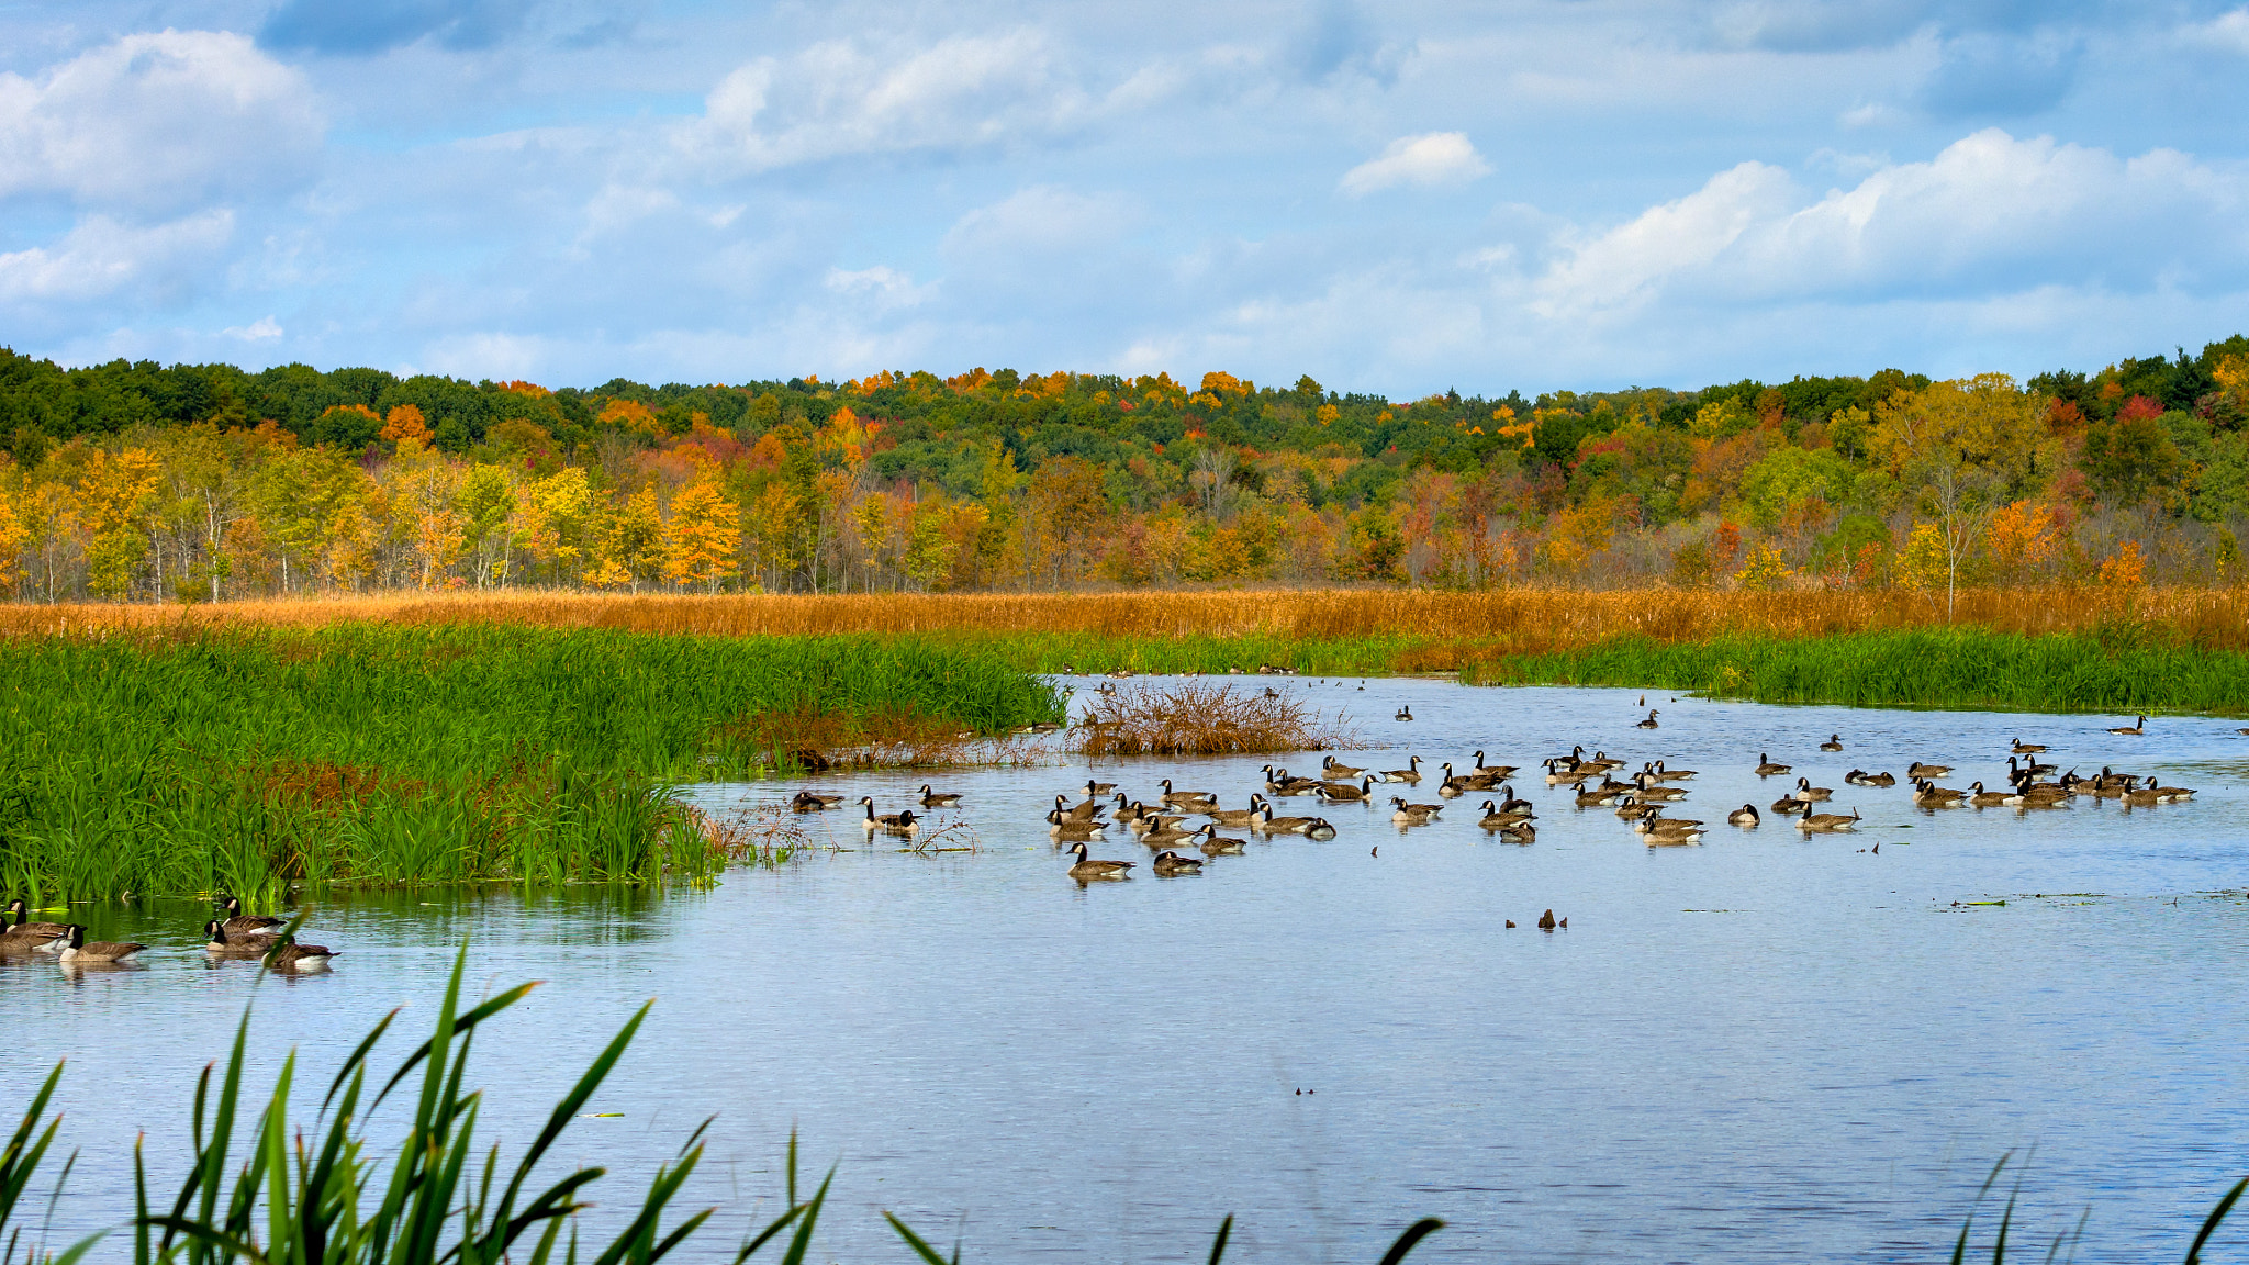
[[[124,36],[0,74],[0,196],[162,212],[295,185],[322,140],[304,77],[227,32]]]

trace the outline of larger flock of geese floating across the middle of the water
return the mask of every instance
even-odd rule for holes
[[[1399,720],[1408,720],[1408,711],[1399,711]],[[1637,723],[1640,729],[1658,727],[1658,711],[1649,711],[1646,720]],[[2116,725],[2110,734],[2119,736],[2143,736],[2148,732],[2148,720],[2141,716],[2132,725]],[[1835,754],[1844,750],[1842,734],[1828,734],[1819,743],[1819,752]],[[2141,777],[2132,772],[2116,772],[2114,768],[2103,768],[2098,774],[2080,777],[2074,768],[2060,777],[2051,777],[2058,768],[2042,756],[2049,750],[2038,743],[2024,743],[2015,738],[2006,752],[2006,770],[1993,772],[1993,788],[1984,781],[1972,781],[1966,788],[1939,786],[1939,779],[1952,774],[1952,765],[1912,761],[1905,768],[1905,777],[1891,774],[1887,770],[1862,770],[1853,768],[1844,774],[1846,786],[1855,788],[1894,788],[1900,781],[1909,788],[1912,804],[1923,810],[1943,808],[2060,808],[2074,799],[2114,799],[2125,808],[2146,808],[2157,804],[2186,801],[2195,795],[2193,788],[2164,786],[2159,779]],[[1606,752],[1586,754],[1586,747],[1572,747],[1565,756],[1550,756],[1541,763],[1545,783],[1550,788],[1563,788],[1572,797],[1572,808],[1610,808],[1626,822],[1633,833],[1651,849],[1655,846],[1687,846],[1702,842],[1707,833],[1707,822],[1691,817],[1673,817],[1671,813],[1687,799],[1689,790],[1685,783],[1698,777],[1696,770],[1671,768],[1667,761],[1646,761],[1637,772],[1624,772],[1628,761],[1610,756]],[[1482,808],[1475,824],[1493,837],[1532,844],[1538,837],[1538,813],[1534,804],[1518,797],[1514,790],[1514,779],[1523,772],[1518,765],[1487,765],[1484,752],[1473,754],[1473,763],[1455,770],[1451,763],[1437,765],[1433,772],[1424,772],[1421,756],[1410,756],[1406,768],[1394,770],[1372,770],[1356,768],[1336,761],[1336,756],[1325,756],[1318,777],[1295,777],[1286,768],[1264,765],[1264,788],[1253,790],[1241,808],[1226,808],[1217,792],[1210,790],[1181,790],[1172,786],[1172,779],[1158,783],[1158,792],[1145,799],[1133,799],[1118,790],[1116,783],[1086,781],[1080,792],[1055,795],[1055,806],[1044,815],[1048,826],[1048,837],[1055,846],[1071,858],[1068,876],[1080,882],[1095,880],[1122,880],[1129,878],[1138,862],[1129,860],[1102,860],[1091,855],[1091,849],[1107,840],[1107,831],[1122,826],[1140,844],[1145,844],[1154,858],[1149,869],[1158,876],[1176,878],[1201,873],[1208,858],[1235,855],[1248,846],[1248,837],[1232,837],[1226,831],[1244,831],[1248,835],[1275,837],[1275,835],[1302,835],[1309,840],[1334,840],[1336,826],[1318,813],[1286,815],[1275,808],[1277,799],[1284,797],[1316,797],[1320,808],[1340,806],[1363,806],[1379,808],[1381,795],[1376,786],[1406,786],[1419,790],[1426,777],[1437,779],[1435,801],[1410,801],[1403,795],[1390,795],[1390,822],[1399,831],[1412,831],[1417,826],[1430,826],[1439,822],[1446,813],[1451,799],[1482,795]],[[1761,779],[1790,777],[1795,768],[1779,763],[1770,752],[1759,752],[1756,765],[1750,770]],[[2004,779],[2004,781],[2002,781]],[[2004,786],[2004,790],[1999,788]],[[1765,813],[1774,817],[1790,819],[1797,831],[1806,835],[1815,833],[1844,833],[1858,828],[1862,822],[1860,810],[1849,813],[1831,810],[1835,788],[1813,786],[1810,777],[1795,777],[1795,786],[1788,788],[1770,808],[1759,810],[1756,804],[1743,804],[1725,815],[1725,822],[1736,828],[1756,828],[1765,822]],[[920,831],[922,815],[913,808],[900,813],[877,813],[875,799],[864,795],[857,801],[866,817],[861,826],[868,835],[897,835],[911,837]],[[929,808],[954,808],[960,804],[960,795],[938,792],[927,783],[920,790],[918,806]],[[841,795],[816,795],[798,792],[792,806],[798,813],[816,813],[841,808]],[[1201,853],[1190,855],[1190,853]],[[1379,855],[1379,849],[1376,849]]]

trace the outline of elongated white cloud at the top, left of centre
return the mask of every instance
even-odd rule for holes
[[[706,99],[695,149],[751,171],[861,153],[954,151],[1050,133],[1084,110],[1035,32],[951,36],[906,56],[850,41],[758,59]]]

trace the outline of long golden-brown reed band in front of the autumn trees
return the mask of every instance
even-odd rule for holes
[[[1995,632],[2092,632],[2146,621],[2200,646],[2249,651],[2249,590],[1975,587],[1952,623]],[[0,605],[0,635],[103,635],[340,621],[531,623],[634,632],[814,635],[960,632],[985,637],[1417,637],[1538,653],[1613,635],[1693,642],[1716,635],[1831,637],[1948,623],[1943,599],[1903,590],[1698,592],[1509,587],[1235,590],[1102,594],[382,594],[216,605]]]

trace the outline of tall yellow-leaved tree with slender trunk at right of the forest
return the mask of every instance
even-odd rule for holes
[[[1916,488],[1943,542],[1945,619],[1984,522],[2040,470],[2044,414],[2044,401],[2006,374],[1930,383],[1876,410],[1867,446]]]

